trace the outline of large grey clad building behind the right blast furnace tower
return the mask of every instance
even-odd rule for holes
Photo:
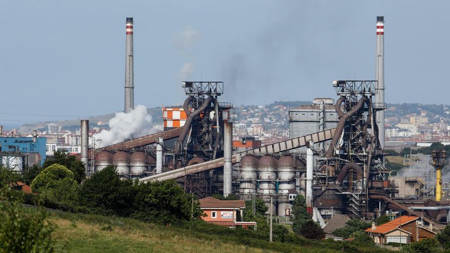
[[[338,113],[334,109],[334,99],[317,98],[312,105],[289,108],[289,138],[295,138],[335,128],[338,126]],[[316,150],[326,150],[330,141],[317,143]],[[306,147],[297,149],[306,151]]]

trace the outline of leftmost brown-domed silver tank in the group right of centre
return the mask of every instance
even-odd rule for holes
[[[245,155],[240,162],[240,185],[239,193],[243,200],[249,200],[252,198],[252,194],[255,193],[256,185],[256,171],[258,170],[258,158],[253,155]]]

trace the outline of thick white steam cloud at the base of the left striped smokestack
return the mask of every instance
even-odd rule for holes
[[[99,145],[104,147],[161,130],[161,126],[151,122],[147,107],[138,105],[128,113],[116,112],[116,116],[108,122],[109,130],[102,130],[95,135],[95,139],[101,140]]]

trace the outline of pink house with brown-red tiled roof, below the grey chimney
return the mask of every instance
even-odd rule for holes
[[[198,201],[200,209],[206,214],[205,217],[202,217],[206,222],[228,227],[254,226],[256,228],[256,222],[242,221],[242,211],[245,209],[243,200],[220,200],[206,197]]]

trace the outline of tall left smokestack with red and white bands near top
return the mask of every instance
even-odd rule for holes
[[[125,43],[125,113],[134,109],[133,81],[133,18],[126,18]]]

